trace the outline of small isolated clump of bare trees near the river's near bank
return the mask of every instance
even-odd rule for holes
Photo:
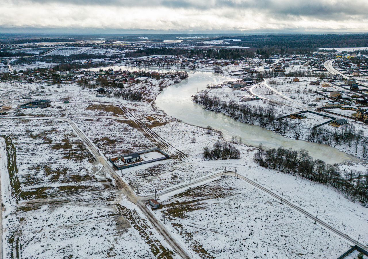
[[[217,141],[213,144],[213,148],[210,149],[206,146],[203,149],[203,157],[209,160],[217,160],[217,159],[239,159],[240,158],[240,151],[229,142]]]

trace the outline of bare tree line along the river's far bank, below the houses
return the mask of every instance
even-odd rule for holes
[[[193,101],[201,104],[206,110],[222,112],[237,121],[259,125],[279,132],[292,133],[299,139],[303,132],[308,132],[305,140],[327,145],[346,145],[348,151],[359,154],[361,158],[368,158],[368,138],[361,130],[356,130],[353,124],[339,128],[317,127],[311,125],[307,130],[298,120],[284,118],[277,120],[281,114],[276,114],[275,106],[279,104],[268,103],[267,106],[255,106],[248,103],[237,104],[233,101],[220,101],[219,97],[208,97],[206,91],[194,96]],[[353,149],[353,150],[351,150]]]

